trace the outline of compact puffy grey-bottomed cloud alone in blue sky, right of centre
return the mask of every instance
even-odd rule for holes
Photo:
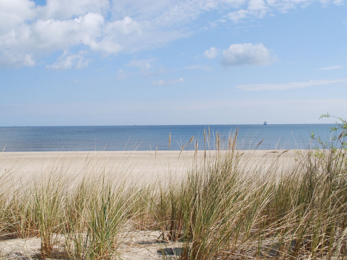
[[[223,66],[239,65],[268,65],[276,59],[262,44],[243,43],[232,44],[227,50],[223,50],[221,63]]]

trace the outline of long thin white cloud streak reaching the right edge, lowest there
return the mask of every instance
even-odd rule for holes
[[[259,90],[284,90],[293,88],[304,88],[319,85],[329,85],[335,83],[345,83],[347,79],[334,79],[334,80],[310,80],[305,82],[292,82],[282,84],[249,84],[249,85],[238,85],[236,88],[240,88],[246,91],[259,91]]]

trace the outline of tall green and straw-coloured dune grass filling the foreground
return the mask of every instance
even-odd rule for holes
[[[0,235],[39,237],[40,258],[116,259],[136,230],[159,231],[180,259],[345,258],[345,150],[298,152],[286,165],[283,151],[248,165],[236,136],[206,131],[201,156],[189,141],[196,156],[183,177],[149,184],[92,164],[74,177],[56,168],[19,185],[5,172]]]

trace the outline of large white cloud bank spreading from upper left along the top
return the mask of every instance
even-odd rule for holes
[[[82,47],[103,56],[134,53],[189,37],[199,26],[222,24],[226,18],[234,22],[261,18],[312,2],[324,6],[345,3],[343,0],[46,0],[41,6],[30,0],[0,0],[0,63],[33,66],[53,52]],[[200,18],[208,12],[220,13],[220,17],[213,16],[213,20],[201,24]],[[214,58],[217,51],[211,48],[204,55]]]

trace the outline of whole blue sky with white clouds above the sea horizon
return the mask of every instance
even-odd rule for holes
[[[0,126],[347,118],[347,0],[0,0]]]

